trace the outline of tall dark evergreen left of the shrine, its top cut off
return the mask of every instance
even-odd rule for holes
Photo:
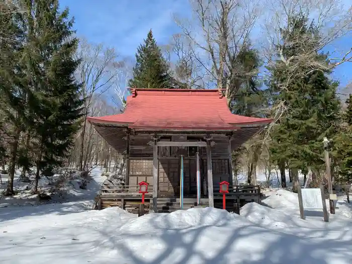
[[[61,163],[79,129],[83,100],[79,98],[81,84],[73,74],[80,61],[73,58],[78,40],[72,38],[73,19],[68,19],[68,9],[60,12],[58,0],[21,3],[27,11],[22,66],[29,87],[28,126],[34,132],[36,191],[40,171],[50,171]]]

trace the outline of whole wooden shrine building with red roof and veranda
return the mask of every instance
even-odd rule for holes
[[[125,186],[102,187],[98,209],[133,211],[140,203],[141,181],[150,184],[145,208],[153,212],[179,209],[180,198],[183,209],[222,208],[222,181],[230,183],[228,210],[243,201],[260,202],[259,187],[234,185],[231,149],[271,120],[233,115],[218,90],[134,89],[123,114],[89,121],[126,157]]]

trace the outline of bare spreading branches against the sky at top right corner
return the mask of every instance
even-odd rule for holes
[[[288,78],[285,83],[279,83],[281,89],[287,89],[293,79],[314,71],[326,72],[352,61],[352,45],[344,51],[335,47],[337,40],[352,33],[352,5],[346,7],[339,0],[269,0],[268,9],[271,15],[263,23],[267,36],[265,55],[271,66],[277,60],[286,65]],[[310,33],[302,32],[282,34],[284,28],[293,33],[291,27],[298,14],[314,22],[319,38],[312,39]],[[283,51],[287,45],[302,48],[299,53],[285,57]],[[316,52],[322,50],[330,52],[330,63],[316,59]]]

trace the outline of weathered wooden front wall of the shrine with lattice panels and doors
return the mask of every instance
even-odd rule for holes
[[[177,141],[174,138],[161,138],[161,141]],[[187,140],[197,140],[195,137],[188,137]],[[150,136],[131,136],[130,139],[130,158],[129,158],[129,185],[138,185],[141,181],[153,184],[153,147],[148,145],[152,139]],[[186,141],[181,138],[180,141]],[[197,140],[198,141],[198,140]],[[228,138],[214,138],[215,144],[211,146],[213,185],[218,187],[222,181],[230,181],[230,164]],[[159,147],[158,148],[158,193],[167,195],[180,194],[180,172],[181,155],[184,156],[184,194],[195,195],[197,190],[197,164],[195,152],[197,147]],[[206,148],[200,149],[200,168],[202,178],[207,182],[207,160]]]

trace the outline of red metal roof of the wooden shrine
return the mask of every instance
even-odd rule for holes
[[[183,89],[133,89],[124,113],[88,120],[135,129],[208,131],[234,130],[236,126],[266,125],[272,121],[232,114],[219,90]]]

